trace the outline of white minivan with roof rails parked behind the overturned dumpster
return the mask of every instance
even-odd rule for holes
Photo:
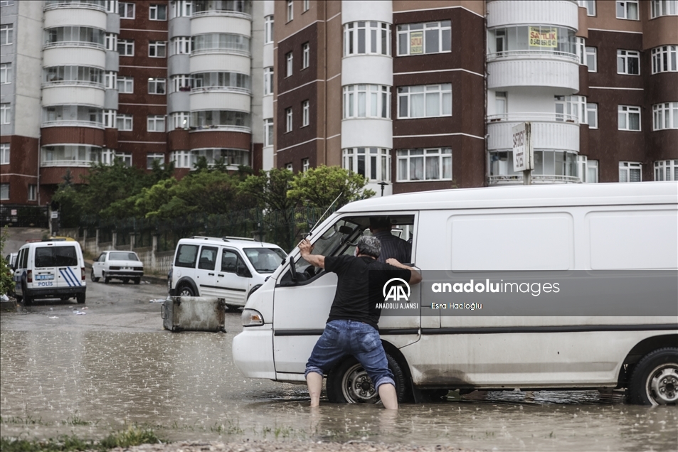
[[[285,257],[275,244],[242,237],[181,239],[167,276],[169,294],[216,296],[231,309],[245,306]]]

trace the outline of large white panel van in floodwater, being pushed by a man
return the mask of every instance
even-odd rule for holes
[[[678,286],[678,184],[613,183],[440,190],[372,198],[339,209],[312,232],[314,254],[353,251],[369,217],[388,215],[427,271],[662,270]],[[337,276],[309,267],[298,249],[253,294],[233,359],[246,377],[304,382]],[[296,278],[295,278],[296,274]],[[670,281],[669,281],[670,283]],[[593,293],[591,299],[602,296]],[[647,293],[638,306],[660,294]],[[670,306],[670,301],[669,301]],[[630,389],[639,404],[678,400],[678,303],[662,316],[384,316],[379,328],[398,396],[447,389]],[[614,306],[613,310],[614,311]],[[377,394],[351,357],[327,376],[331,402]]]

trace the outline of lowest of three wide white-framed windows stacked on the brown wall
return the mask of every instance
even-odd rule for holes
[[[398,149],[398,182],[451,181],[452,149]]]

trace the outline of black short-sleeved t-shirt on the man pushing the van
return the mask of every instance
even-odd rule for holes
[[[381,287],[391,278],[410,280],[408,269],[399,269],[366,256],[325,257],[325,270],[332,271],[339,277],[327,321],[354,320],[369,323],[377,329],[381,309],[377,309],[375,304],[383,301],[383,298],[379,298],[382,296],[381,292],[370,294],[369,286]],[[370,274],[373,279],[383,281],[372,281],[369,284]]]

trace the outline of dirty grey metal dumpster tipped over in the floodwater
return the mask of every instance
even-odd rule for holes
[[[223,331],[226,303],[223,298],[172,296],[160,307],[162,325],[171,331]]]

